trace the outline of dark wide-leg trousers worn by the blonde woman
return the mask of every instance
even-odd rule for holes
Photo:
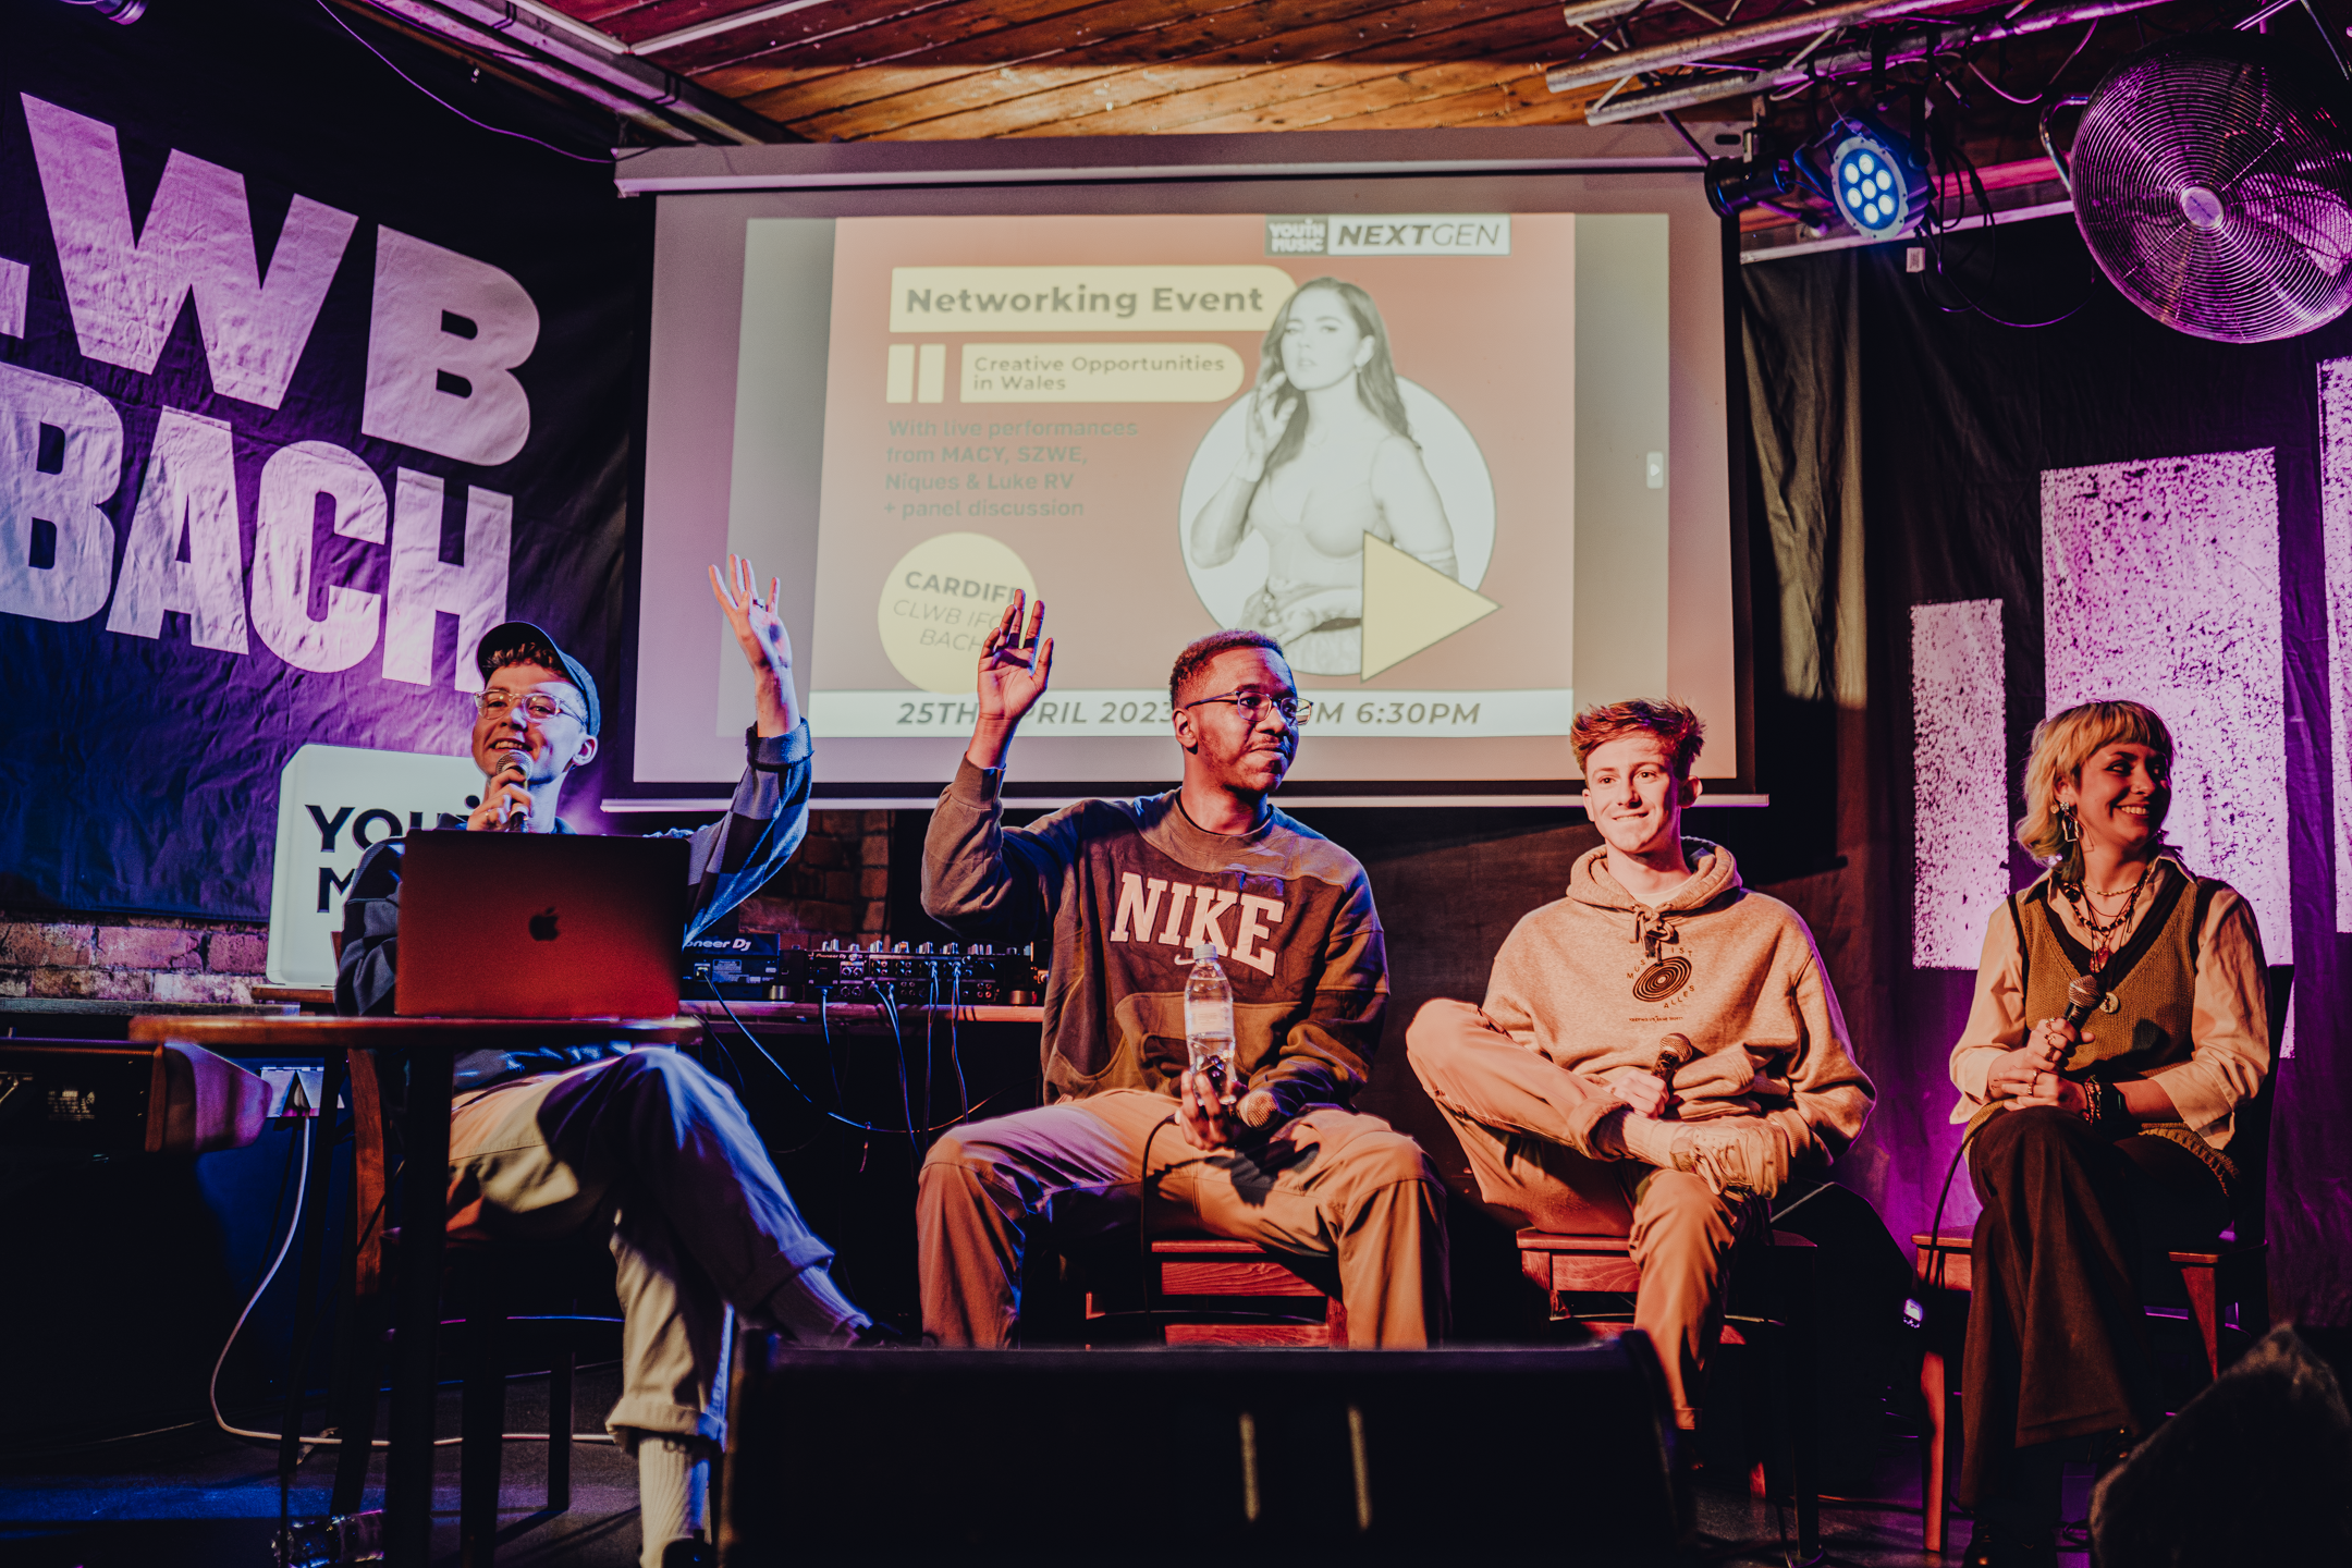
[[[2211,1244],[2230,1201],[2178,1143],[2110,1140],[2046,1105],[1992,1117],[1969,1145],[1969,1178],[1985,1211],[1955,1495],[1980,1507],[2018,1448],[2138,1439],[2164,1418],[2143,1302],[2169,1274],[2164,1253]]]

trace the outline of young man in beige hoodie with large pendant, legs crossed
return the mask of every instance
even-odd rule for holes
[[[1630,1234],[1635,1326],[1675,1420],[1722,1328],[1731,1244],[1795,1161],[1825,1164],[1872,1088],[1804,922],[1682,837],[1703,726],[1682,703],[1588,708],[1571,743],[1602,849],[1503,940],[1486,1006],[1430,1001],[1406,1032],[1479,1192],[1529,1225]]]

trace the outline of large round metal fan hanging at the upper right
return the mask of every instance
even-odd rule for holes
[[[2199,339],[2267,343],[2352,306],[2340,80],[2265,38],[2218,33],[2143,49],[2072,103],[2074,150],[2051,158],[2091,256],[2140,310]]]

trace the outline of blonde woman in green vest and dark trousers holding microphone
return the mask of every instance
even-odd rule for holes
[[[2060,1467],[2164,1418],[2143,1279],[2249,1187],[2237,1114],[2270,1072],[2263,936],[2164,844],[2173,738],[2140,703],[2034,729],[2018,842],[2049,870],[1985,926],[1952,1048],[1976,1222],[1964,1460],[1971,1568],[2056,1563]],[[2077,1027],[2067,987],[2103,1001]]]

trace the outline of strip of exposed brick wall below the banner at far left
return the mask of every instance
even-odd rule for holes
[[[230,919],[0,910],[0,997],[252,1001],[268,933]]]

